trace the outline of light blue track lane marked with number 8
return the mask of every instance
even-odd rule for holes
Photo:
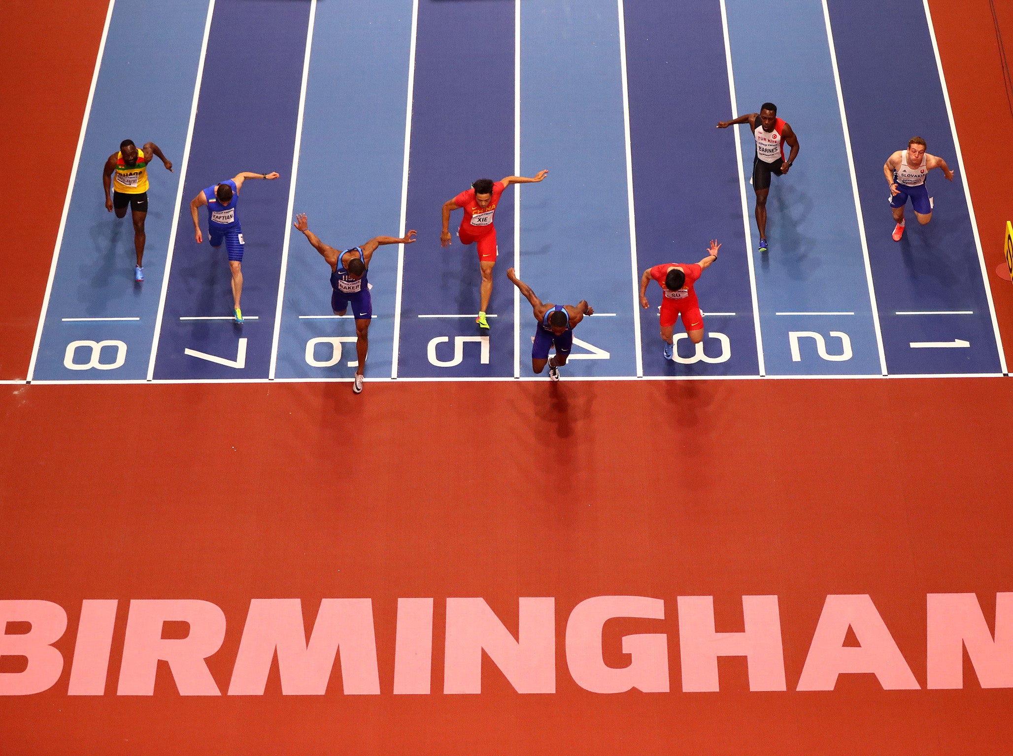
[[[207,14],[208,0],[115,4],[29,377],[147,375]],[[102,168],[125,139],[139,147],[154,142],[174,171],[166,171],[158,158],[148,167],[148,239],[140,284],[134,281],[131,213],[118,219],[102,196]],[[71,346],[75,342],[80,343]],[[101,342],[106,343],[93,359],[92,344]],[[121,356],[122,364],[113,367]],[[99,363],[103,366],[88,366]]]

